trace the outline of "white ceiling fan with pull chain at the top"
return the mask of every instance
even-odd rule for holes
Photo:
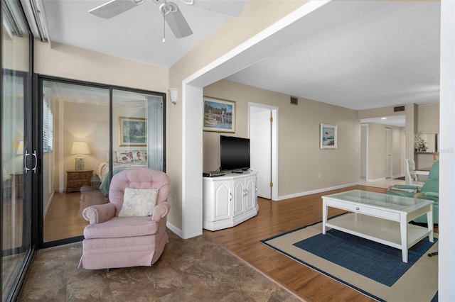
[[[178,9],[177,4],[167,0],[150,0],[155,4],[159,4],[159,11],[164,17],[164,21],[171,28],[172,33],[176,38],[183,38],[193,34],[188,22],[186,22],[183,13]],[[245,0],[225,1],[225,0],[180,0],[183,4],[188,6],[198,7],[199,9],[205,9],[208,11],[216,11],[223,13],[228,16],[240,16],[245,5]],[[120,13],[124,13],[129,9],[133,9],[141,4],[145,0],[112,0],[106,4],[91,9],[89,13],[100,18],[109,19],[114,16],[118,16]],[[163,43],[165,38],[163,38]]]

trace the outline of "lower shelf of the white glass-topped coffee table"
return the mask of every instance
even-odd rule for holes
[[[397,221],[348,213],[327,220],[326,227],[402,250],[400,223]],[[428,228],[407,224],[407,249],[429,236],[430,233]]]

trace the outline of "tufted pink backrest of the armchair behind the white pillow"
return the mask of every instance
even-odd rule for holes
[[[126,169],[114,174],[109,186],[109,201],[116,208],[115,216],[119,216],[122,208],[125,188],[159,189],[156,198],[156,204],[158,204],[168,200],[169,183],[168,174],[148,168]]]

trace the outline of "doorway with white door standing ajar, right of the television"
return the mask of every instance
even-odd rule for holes
[[[257,196],[278,200],[278,107],[248,103],[251,169],[258,171]]]

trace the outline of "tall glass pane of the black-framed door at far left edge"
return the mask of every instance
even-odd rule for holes
[[[30,140],[24,136],[29,37],[17,5],[16,1],[1,1],[2,301],[14,296],[31,250],[31,194],[23,189],[23,146]]]

